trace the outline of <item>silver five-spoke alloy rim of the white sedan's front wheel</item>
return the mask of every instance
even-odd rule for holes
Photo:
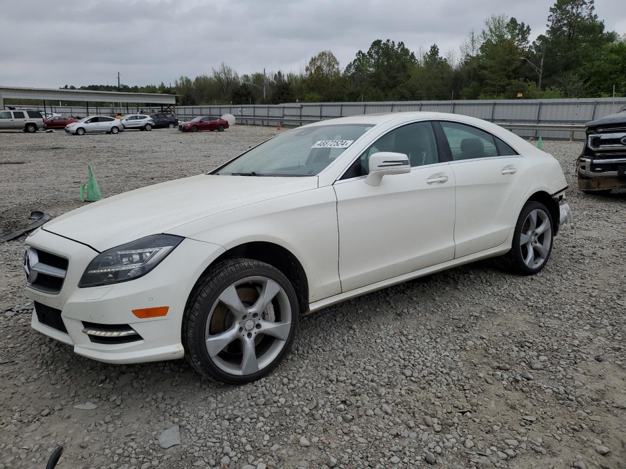
[[[285,290],[265,276],[228,286],[213,304],[205,325],[211,360],[230,375],[251,375],[269,366],[291,331]]]

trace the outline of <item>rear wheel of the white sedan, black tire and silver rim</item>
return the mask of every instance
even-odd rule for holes
[[[511,250],[505,255],[510,270],[533,275],[543,269],[552,253],[552,226],[552,216],[544,204],[526,202],[515,225]]]

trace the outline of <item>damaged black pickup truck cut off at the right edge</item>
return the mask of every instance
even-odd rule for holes
[[[586,126],[585,148],[576,163],[578,189],[586,194],[626,189],[626,106]]]

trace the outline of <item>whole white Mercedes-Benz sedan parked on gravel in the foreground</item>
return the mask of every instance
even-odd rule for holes
[[[254,381],[300,315],[483,258],[538,273],[570,223],[557,160],[480,119],[372,114],[103,199],[26,240],[34,329],[109,363]]]

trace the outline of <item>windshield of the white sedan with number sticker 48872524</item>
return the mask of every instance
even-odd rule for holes
[[[315,176],[372,124],[334,124],[294,129],[252,148],[217,174]]]

